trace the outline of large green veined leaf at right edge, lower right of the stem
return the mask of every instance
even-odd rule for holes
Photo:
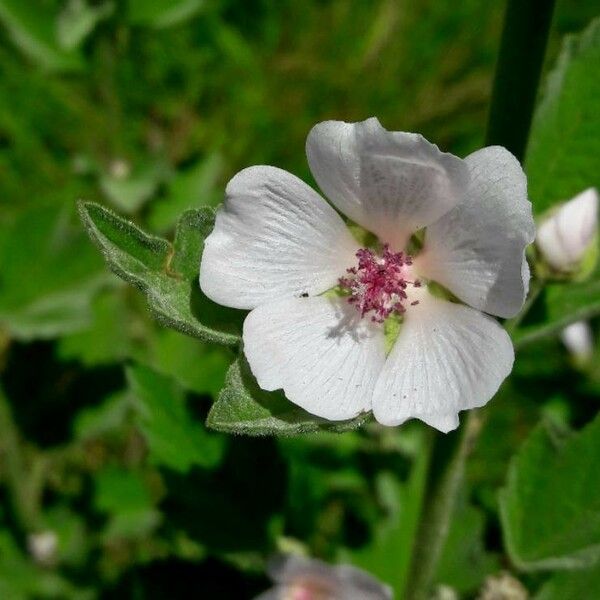
[[[600,558],[600,415],[582,431],[538,426],[500,493],[504,540],[524,570],[571,569]]]

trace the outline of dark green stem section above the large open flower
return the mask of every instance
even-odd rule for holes
[[[520,161],[531,126],[555,0],[508,0],[486,146],[498,144]]]

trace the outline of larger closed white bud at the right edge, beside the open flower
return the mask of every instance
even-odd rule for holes
[[[598,229],[598,192],[589,188],[563,204],[538,228],[535,243],[558,271],[577,268]]]

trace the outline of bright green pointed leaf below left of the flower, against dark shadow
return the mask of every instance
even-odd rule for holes
[[[225,438],[207,432],[190,415],[183,390],[171,378],[143,366],[126,372],[154,463],[185,473],[193,466],[212,468],[221,462]]]

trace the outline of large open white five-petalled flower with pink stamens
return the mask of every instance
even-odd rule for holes
[[[297,177],[250,167],[229,182],[206,239],[202,290],[251,310],[244,352],[263,389],[330,420],[372,410],[385,425],[456,428],[458,412],[484,405],[512,369],[510,339],[484,313],[511,317],[527,293],[534,225],[518,161],[501,147],[461,160],[375,118],[316,125],[307,155],[323,192],[378,236],[379,251],[360,248]],[[431,281],[465,304],[434,296]],[[348,295],[323,295],[336,285]],[[398,315],[388,353],[380,321]]]

